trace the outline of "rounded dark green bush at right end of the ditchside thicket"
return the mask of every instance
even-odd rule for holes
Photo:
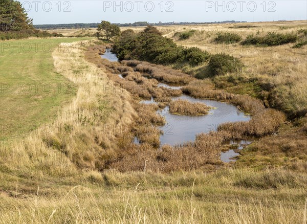
[[[238,58],[225,53],[212,55],[208,64],[208,69],[212,76],[238,72],[242,68],[243,63]]]

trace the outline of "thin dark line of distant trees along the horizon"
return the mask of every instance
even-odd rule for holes
[[[195,22],[168,22],[168,23],[148,23],[146,21],[139,21],[135,23],[126,23],[126,24],[114,24],[119,27],[146,27],[146,26],[173,26],[173,25],[198,25],[198,24],[225,24],[225,23],[246,23],[246,21],[218,21],[211,23],[195,23]],[[46,25],[34,25],[36,29],[42,30],[55,30],[55,29],[81,29],[81,28],[97,28],[99,23],[91,24],[46,24]]]

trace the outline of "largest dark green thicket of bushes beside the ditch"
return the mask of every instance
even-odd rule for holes
[[[113,51],[120,60],[137,59],[164,65],[188,63],[196,66],[209,58],[209,54],[199,48],[179,47],[170,38],[148,32],[122,35],[114,43]]]

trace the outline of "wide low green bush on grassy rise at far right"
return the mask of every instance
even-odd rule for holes
[[[269,32],[266,36],[254,36],[249,35],[247,38],[242,42],[243,45],[258,45],[258,46],[277,46],[286,43],[293,43],[297,40],[297,36],[288,33],[288,34],[281,34],[276,32]]]

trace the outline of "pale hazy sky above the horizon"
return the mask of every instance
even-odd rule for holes
[[[33,24],[307,19],[307,1],[20,1]]]

